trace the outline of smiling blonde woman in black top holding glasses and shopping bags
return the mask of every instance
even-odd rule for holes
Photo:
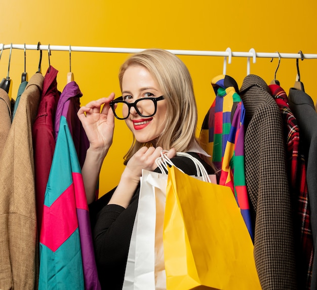
[[[192,80],[178,57],[160,49],[134,54],[122,65],[119,81],[122,97],[114,100],[111,93],[78,111],[90,141],[82,173],[91,214],[98,212],[93,222],[98,274],[102,287],[109,289],[123,285],[142,169],[155,170],[155,159],[164,149],[189,175],[196,173],[192,161],[174,157],[176,152],[190,153],[214,173],[195,138]],[[100,168],[112,143],[114,117],[125,120],[134,143],[125,156],[126,168],[118,186],[94,201]]]

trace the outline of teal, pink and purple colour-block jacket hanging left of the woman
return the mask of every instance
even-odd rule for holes
[[[86,193],[65,116],[44,199],[38,289],[100,289]]]

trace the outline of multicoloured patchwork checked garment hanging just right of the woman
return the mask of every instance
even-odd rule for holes
[[[228,186],[234,193],[237,204],[252,240],[252,225],[249,196],[245,179],[245,108],[235,80],[220,75],[211,82],[216,98],[203,122],[200,141],[212,155],[220,170],[219,184]]]

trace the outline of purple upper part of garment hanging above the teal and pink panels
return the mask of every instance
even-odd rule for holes
[[[81,107],[80,98],[82,96],[83,94],[76,82],[68,83],[58,101],[55,116],[55,140],[58,135],[60,118],[61,116],[64,116],[67,120],[68,127],[74,141],[81,168],[84,165],[86,152],[89,148],[89,140],[83,125],[77,116],[77,112]]]

